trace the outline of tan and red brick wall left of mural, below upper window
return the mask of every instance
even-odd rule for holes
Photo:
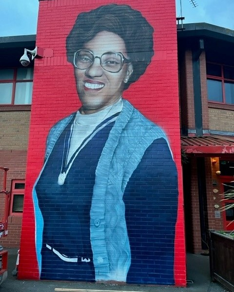
[[[6,189],[12,180],[25,180],[30,111],[0,112],[0,166],[9,168]],[[3,171],[0,172],[0,188]],[[0,218],[3,218],[5,195],[0,195]],[[0,239],[4,247],[20,247],[22,214],[8,217],[8,235]]]

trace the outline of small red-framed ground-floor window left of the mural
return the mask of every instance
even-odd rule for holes
[[[24,180],[12,180],[10,215],[22,215],[24,188]]]

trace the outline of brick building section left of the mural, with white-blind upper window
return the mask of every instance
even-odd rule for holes
[[[0,167],[10,169],[6,189],[11,190],[6,247],[19,247],[25,186],[28,131],[30,122],[33,64],[20,66],[24,47],[35,47],[35,35],[1,37],[0,53]],[[0,171],[0,188],[3,171]],[[0,218],[4,216],[5,195],[0,194]]]

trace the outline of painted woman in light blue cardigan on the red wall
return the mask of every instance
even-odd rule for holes
[[[122,98],[153,32],[110,4],[80,13],[67,37],[82,106],[51,129],[33,190],[41,279],[174,284],[176,165],[160,127]]]

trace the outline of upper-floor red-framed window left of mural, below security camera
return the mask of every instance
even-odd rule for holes
[[[0,69],[0,106],[31,105],[33,68]]]

